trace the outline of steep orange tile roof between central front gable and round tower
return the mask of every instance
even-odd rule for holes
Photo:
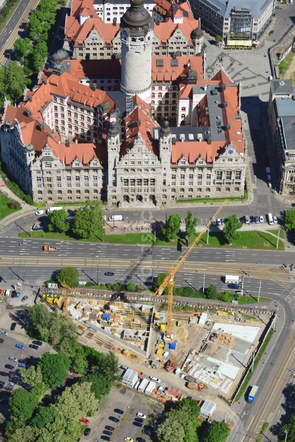
[[[140,126],[137,125],[137,120],[140,120]],[[124,141],[120,148],[120,157],[124,156],[128,150],[133,147],[134,141],[138,137],[138,133],[146,142],[146,147],[150,149],[154,155],[158,156],[158,143],[153,139],[153,129],[159,127],[157,123],[150,117],[149,111],[137,105],[123,120],[122,138]]]

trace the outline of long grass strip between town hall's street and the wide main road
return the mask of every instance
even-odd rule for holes
[[[277,235],[277,230],[272,231]],[[239,232],[240,239],[235,241],[231,246],[226,244],[222,232],[211,232],[209,234],[208,246],[206,244],[207,234],[203,235],[200,240],[202,247],[211,248],[248,248],[248,249],[261,249],[261,250],[276,250],[276,238],[275,236],[259,231]],[[19,238],[27,238],[28,234],[25,232],[19,233]],[[51,233],[51,232],[32,232],[33,238],[48,238],[54,240],[76,240],[74,236],[67,235],[66,233]],[[284,238],[284,230],[280,230],[280,238]],[[153,233],[125,233],[119,235],[104,235],[104,242],[110,244],[154,244]],[[190,243],[195,239],[195,235],[190,238]],[[96,235],[88,238],[88,242],[101,242],[101,229]],[[180,234],[176,240],[167,242],[163,235],[156,235],[157,246],[185,246],[185,234]],[[198,246],[196,246],[198,247]],[[278,250],[284,250],[284,242],[279,240]]]

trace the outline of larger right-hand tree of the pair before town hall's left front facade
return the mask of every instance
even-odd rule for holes
[[[90,238],[98,229],[101,229],[102,221],[101,203],[92,201],[83,210],[76,211],[73,233],[79,238]]]

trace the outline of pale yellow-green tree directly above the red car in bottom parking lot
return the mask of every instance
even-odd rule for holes
[[[57,411],[64,416],[65,419],[77,419],[82,416],[94,416],[98,400],[91,391],[90,382],[82,382],[66,387],[57,396],[56,408]]]

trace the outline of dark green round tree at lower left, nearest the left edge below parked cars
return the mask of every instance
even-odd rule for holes
[[[11,416],[25,422],[33,415],[34,409],[39,402],[39,397],[23,388],[18,388],[12,392],[9,400],[9,411]]]

